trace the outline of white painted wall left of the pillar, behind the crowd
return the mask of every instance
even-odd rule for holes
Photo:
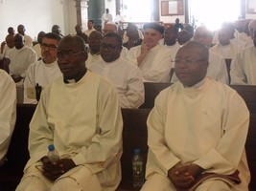
[[[51,32],[55,24],[59,25],[63,34],[71,33],[76,25],[75,2],[73,0],[1,0],[0,42],[5,40],[9,27],[17,31],[19,24],[23,24],[26,33],[33,38],[40,31]]]

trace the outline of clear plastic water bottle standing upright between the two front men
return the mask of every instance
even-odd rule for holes
[[[132,183],[135,189],[139,189],[144,183],[143,158],[140,149],[134,149],[132,157]]]

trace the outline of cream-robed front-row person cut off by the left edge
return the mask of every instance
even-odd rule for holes
[[[12,77],[0,69],[0,166],[4,164],[16,120],[16,87]]]

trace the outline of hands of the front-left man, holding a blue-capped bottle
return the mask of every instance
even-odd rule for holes
[[[41,161],[43,163],[43,174],[49,180],[57,180],[58,177],[76,166],[72,159],[59,159],[52,162],[45,156]]]

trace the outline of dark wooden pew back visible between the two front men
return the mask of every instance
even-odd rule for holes
[[[122,181],[118,191],[133,190],[131,158],[135,148],[141,149],[142,157],[144,159],[144,170],[146,168],[148,154],[148,131],[146,121],[150,112],[151,109],[122,109],[124,121],[124,153],[121,159]]]

